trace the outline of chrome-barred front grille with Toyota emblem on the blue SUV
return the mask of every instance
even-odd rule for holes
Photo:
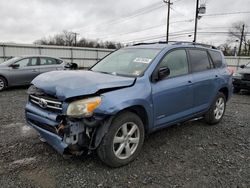
[[[47,99],[45,97],[38,97],[35,95],[29,96],[30,102],[39,106],[42,109],[50,110],[50,111],[62,111],[62,102],[57,100]]]

